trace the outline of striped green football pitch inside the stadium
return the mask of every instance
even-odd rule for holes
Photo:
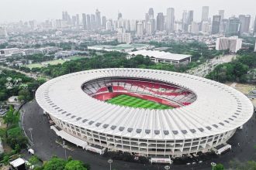
[[[170,107],[165,104],[159,104],[154,101],[144,100],[138,97],[131,97],[126,94],[119,95],[117,97],[113,97],[106,101],[109,104],[117,104],[120,106],[126,107],[137,107],[137,108],[147,108],[147,109],[171,109]]]

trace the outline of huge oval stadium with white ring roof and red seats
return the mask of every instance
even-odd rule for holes
[[[185,73],[87,70],[59,76],[36,101],[61,138],[86,150],[180,157],[224,145],[253,114],[243,93]]]

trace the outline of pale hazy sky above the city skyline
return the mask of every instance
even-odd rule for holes
[[[148,8],[166,13],[166,8],[175,8],[176,19],[182,18],[182,11],[195,11],[195,20],[201,19],[202,6],[209,6],[209,16],[225,10],[225,16],[250,14],[256,15],[256,0],[0,0],[0,22],[19,20],[61,19],[61,12],[71,15],[95,13],[99,8],[102,15],[116,19],[117,12],[122,12],[124,19],[144,19]]]

